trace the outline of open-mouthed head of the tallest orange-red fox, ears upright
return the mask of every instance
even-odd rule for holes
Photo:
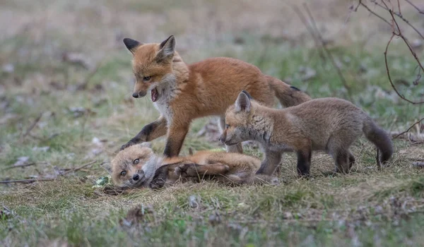
[[[150,90],[152,101],[157,101],[166,90],[166,84],[175,82],[172,73],[175,37],[171,35],[160,44],[143,44],[125,38],[124,44],[133,54],[132,64],[136,76],[133,97],[144,97]]]

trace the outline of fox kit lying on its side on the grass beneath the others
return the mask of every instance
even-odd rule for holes
[[[146,145],[132,145],[112,159],[105,169],[115,186],[161,188],[179,179],[214,179],[223,183],[276,183],[273,176],[256,175],[261,161],[255,157],[229,152],[200,151],[187,157],[165,158]]]

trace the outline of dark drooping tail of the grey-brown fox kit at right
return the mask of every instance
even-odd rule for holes
[[[393,155],[393,143],[391,143],[389,135],[379,128],[370,117],[365,120],[363,132],[365,137],[377,146],[377,165],[386,163]]]

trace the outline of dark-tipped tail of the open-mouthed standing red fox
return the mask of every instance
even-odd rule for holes
[[[276,97],[280,100],[283,107],[293,107],[311,100],[311,97],[300,89],[283,83],[283,81],[273,78],[272,76],[266,76],[271,88],[276,92]]]

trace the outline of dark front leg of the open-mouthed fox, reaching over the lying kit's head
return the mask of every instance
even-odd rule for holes
[[[158,120],[153,121],[152,123],[149,123],[148,125],[144,126],[141,131],[136,136],[134,136],[134,138],[131,138],[131,140],[129,140],[128,143],[122,145],[121,150],[124,150],[126,147],[137,143],[144,143],[151,140],[155,140],[156,138],[165,135],[166,131],[166,119],[163,116],[160,116]]]

